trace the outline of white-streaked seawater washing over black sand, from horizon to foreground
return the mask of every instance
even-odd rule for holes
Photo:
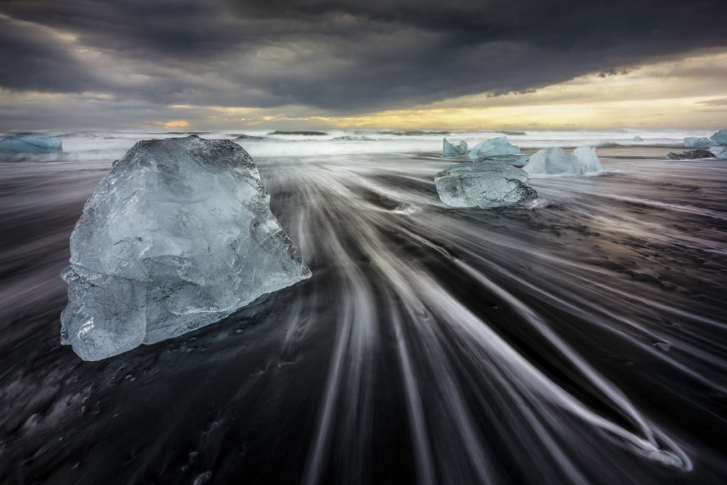
[[[43,134],[64,152],[0,155],[1,483],[726,480],[727,160],[665,159],[710,133],[196,132],[252,155],[313,277],[101,362],[60,345],[71,231],[135,142],[188,133]],[[443,136],[604,171],[449,208]]]

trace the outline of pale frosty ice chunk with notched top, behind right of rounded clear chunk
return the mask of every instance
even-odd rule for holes
[[[573,150],[573,155],[562,148],[550,147],[530,155],[523,170],[529,175],[582,175],[602,171],[603,166],[593,147],[578,147]]]

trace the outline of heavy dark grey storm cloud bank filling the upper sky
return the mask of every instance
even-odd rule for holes
[[[349,113],[727,45],[723,0],[10,0],[0,12],[9,89]]]

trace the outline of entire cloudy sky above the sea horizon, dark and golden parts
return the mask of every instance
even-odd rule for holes
[[[725,0],[0,0],[0,130],[719,129]]]

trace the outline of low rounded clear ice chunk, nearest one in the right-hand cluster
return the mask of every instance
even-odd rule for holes
[[[533,207],[538,195],[528,174],[507,163],[458,163],[434,176],[439,198],[451,207]]]

